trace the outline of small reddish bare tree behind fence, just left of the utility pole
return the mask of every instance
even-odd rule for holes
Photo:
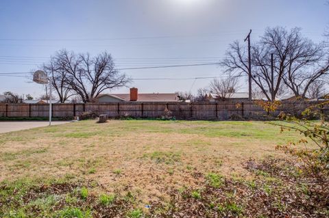
[[[228,74],[228,77],[214,79],[210,83],[210,91],[217,95],[221,100],[230,98],[236,92],[238,85],[238,77]]]

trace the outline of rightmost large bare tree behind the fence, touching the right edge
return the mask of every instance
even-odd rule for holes
[[[303,38],[300,28],[268,29],[262,41],[276,54],[279,65],[275,68],[283,72],[282,79],[295,96],[304,98],[310,85],[329,70],[325,44]]]

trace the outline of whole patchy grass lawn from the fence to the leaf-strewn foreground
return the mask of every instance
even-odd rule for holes
[[[199,217],[284,217],[284,200],[271,214],[244,197],[287,186],[273,169],[291,157],[275,146],[299,138],[254,121],[88,120],[0,134],[0,217],[198,217],[188,207],[200,202]]]

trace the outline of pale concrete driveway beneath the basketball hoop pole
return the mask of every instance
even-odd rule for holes
[[[69,123],[67,121],[53,121],[51,125],[59,125]],[[21,131],[23,129],[48,126],[48,121],[5,121],[0,122],[0,133],[8,133],[12,131]]]

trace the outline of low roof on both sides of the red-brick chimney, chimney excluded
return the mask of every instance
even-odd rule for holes
[[[130,101],[130,94],[99,94],[97,98],[101,98],[102,96],[111,96],[113,98],[117,98],[123,101]],[[147,101],[147,102],[154,102],[154,101],[178,101],[178,94],[175,93],[138,93],[137,101]]]

